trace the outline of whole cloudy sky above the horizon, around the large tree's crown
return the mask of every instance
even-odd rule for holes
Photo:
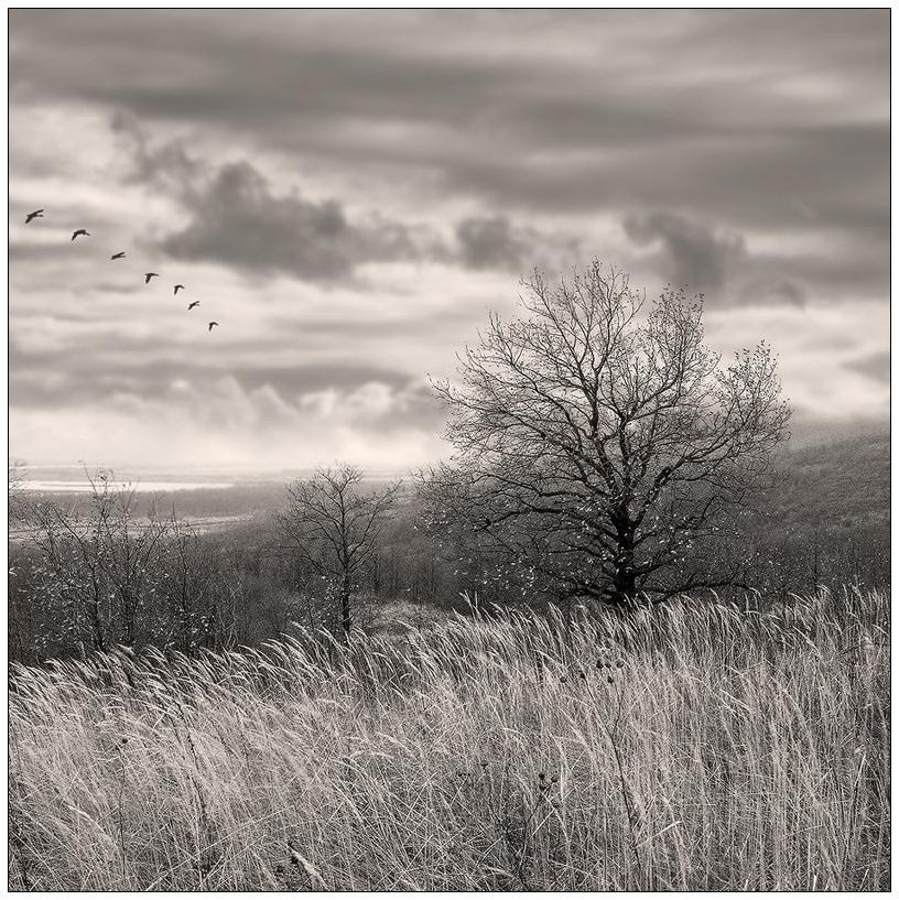
[[[800,427],[888,413],[888,12],[9,28],[10,449],[32,464],[434,459],[426,375],[521,274],[594,256],[704,292],[717,349],[768,339]]]

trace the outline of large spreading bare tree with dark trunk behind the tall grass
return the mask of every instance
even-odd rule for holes
[[[647,303],[596,261],[523,288],[524,315],[491,315],[459,383],[434,384],[456,451],[423,479],[437,524],[462,523],[556,596],[630,609],[733,583],[691,551],[747,503],[786,434],[769,348],[722,366],[701,297]]]

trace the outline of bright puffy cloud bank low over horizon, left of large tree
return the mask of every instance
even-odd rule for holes
[[[10,415],[14,452],[33,464],[252,463],[260,470],[348,459],[403,474],[442,452],[442,413],[419,380],[291,398],[268,383],[247,388],[232,376],[178,378],[160,397],[120,390],[99,406],[13,405]],[[46,444],[47,427],[65,432],[65,446]]]

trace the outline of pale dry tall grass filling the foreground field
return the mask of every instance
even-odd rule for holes
[[[11,887],[887,889],[888,616],[847,593],[17,668]]]

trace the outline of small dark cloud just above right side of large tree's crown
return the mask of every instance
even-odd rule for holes
[[[660,243],[678,288],[718,291],[733,265],[746,256],[740,235],[718,231],[675,213],[629,216],[624,223],[638,245]]]

